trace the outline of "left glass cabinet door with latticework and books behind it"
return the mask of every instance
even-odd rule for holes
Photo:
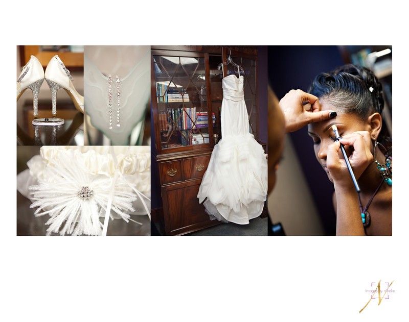
[[[160,128],[156,142],[163,152],[184,146],[209,145],[209,135],[213,133],[209,129],[214,117],[209,115],[205,55],[170,56],[171,52],[167,55],[153,52],[157,126]]]

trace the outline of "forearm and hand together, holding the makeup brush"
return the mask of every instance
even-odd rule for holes
[[[349,160],[356,178],[360,177],[373,160],[368,140],[370,140],[369,132],[355,132],[345,135],[340,140],[343,144],[354,147]],[[336,235],[363,236],[365,231],[362,226],[357,192],[339,150],[339,142],[329,145],[327,150],[327,168],[335,188]]]

